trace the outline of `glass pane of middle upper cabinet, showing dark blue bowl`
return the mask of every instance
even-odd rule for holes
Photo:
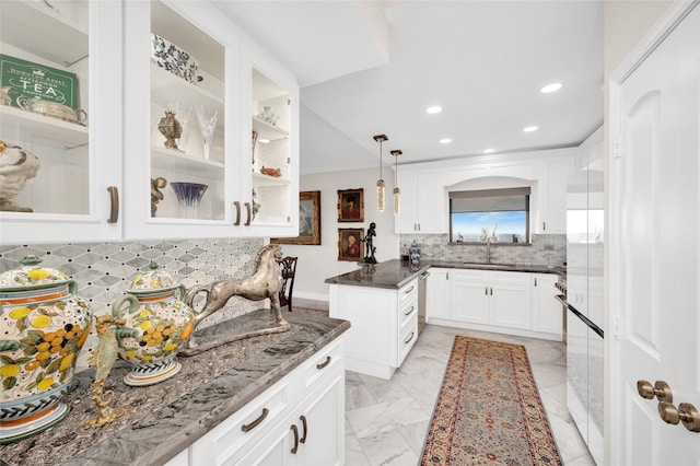
[[[222,220],[225,48],[151,3],[151,179],[156,218]]]

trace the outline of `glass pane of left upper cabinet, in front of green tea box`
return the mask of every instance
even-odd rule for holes
[[[0,2],[2,211],[90,213],[89,7]]]

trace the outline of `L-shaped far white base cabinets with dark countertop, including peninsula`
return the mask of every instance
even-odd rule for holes
[[[436,325],[561,340],[553,296],[563,272],[538,264],[427,260],[409,267],[393,259],[325,282],[330,317],[352,324],[347,369],[388,380],[416,343],[423,313]]]

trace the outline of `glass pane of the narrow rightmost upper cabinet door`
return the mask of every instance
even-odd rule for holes
[[[253,70],[254,223],[288,224],[290,218],[290,94]]]

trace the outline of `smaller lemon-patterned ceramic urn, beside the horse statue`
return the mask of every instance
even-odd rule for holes
[[[195,326],[195,312],[182,300],[185,287],[151,263],[151,270],[137,276],[127,294],[112,306],[112,314],[126,319],[117,327],[119,358],[133,364],[124,383],[152,385],[177,374],[177,352]]]

